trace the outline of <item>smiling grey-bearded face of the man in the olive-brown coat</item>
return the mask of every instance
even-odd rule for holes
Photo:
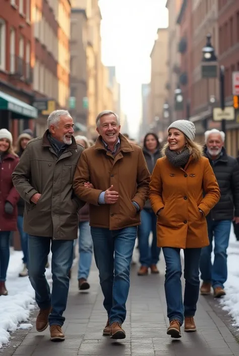
[[[72,144],[72,136],[74,133],[74,122],[72,117],[62,115],[56,125],[50,125],[49,130],[56,140],[65,144]]]

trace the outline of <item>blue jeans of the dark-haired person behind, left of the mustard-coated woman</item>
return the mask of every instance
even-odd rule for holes
[[[149,247],[149,234],[152,231],[153,240]],[[140,264],[150,267],[159,261],[160,247],[157,247],[157,217],[151,209],[141,212],[141,225],[138,229]]]

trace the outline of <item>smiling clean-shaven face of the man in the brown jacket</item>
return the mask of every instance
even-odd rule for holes
[[[109,147],[112,147],[118,140],[120,129],[121,125],[118,125],[116,117],[113,114],[109,114],[101,116],[96,130],[102,136],[103,141]]]

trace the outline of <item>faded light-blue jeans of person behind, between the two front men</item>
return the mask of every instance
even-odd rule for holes
[[[79,223],[79,262],[78,279],[87,279],[90,273],[90,266],[93,253],[93,241],[90,233],[89,221]]]

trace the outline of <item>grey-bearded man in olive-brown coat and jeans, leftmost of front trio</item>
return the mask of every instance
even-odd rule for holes
[[[31,140],[13,173],[13,183],[25,200],[23,229],[28,237],[28,273],[40,308],[37,331],[50,325],[51,340],[64,340],[73,242],[78,233],[78,210],[84,205],[74,196],[72,183],[84,148],[73,137],[68,111],[56,110],[47,120],[43,137]],[[52,293],[45,278],[52,251]]]

